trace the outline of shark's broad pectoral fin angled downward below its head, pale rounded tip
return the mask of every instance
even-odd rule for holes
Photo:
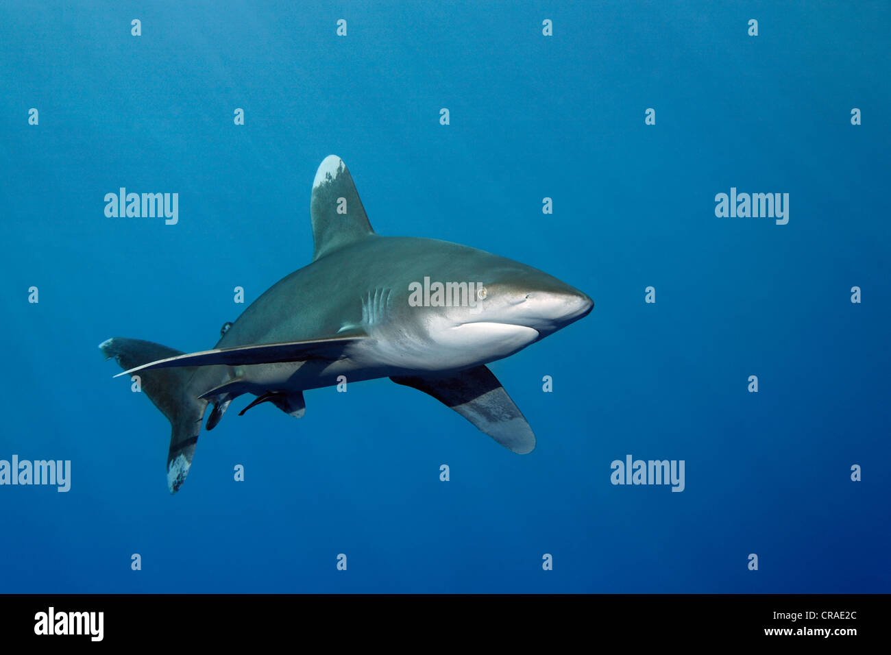
[[[446,377],[406,376],[390,380],[435,397],[514,453],[527,454],[535,448],[532,428],[486,366]]]

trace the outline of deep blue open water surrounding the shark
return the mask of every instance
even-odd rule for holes
[[[887,3],[226,5],[0,7],[0,459],[71,462],[0,487],[0,591],[891,591]],[[309,262],[331,153],[378,233],[595,300],[491,365],[538,447],[388,380],[241,397],[170,495],[168,422],[96,346],[211,348],[234,287]],[[178,224],[105,217],[122,186]],[[731,187],[788,225],[715,217]],[[626,454],[683,492],[612,485]]]

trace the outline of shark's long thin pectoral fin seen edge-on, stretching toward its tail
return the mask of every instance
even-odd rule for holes
[[[209,366],[213,364],[229,364],[238,366],[244,364],[275,364],[279,362],[305,362],[309,359],[339,359],[344,354],[347,346],[363,340],[362,336],[344,335],[331,337],[331,339],[313,339],[306,341],[287,341],[284,343],[264,343],[257,346],[242,346],[240,348],[218,348],[215,350],[203,350],[199,353],[187,353],[159,359],[149,364],[136,366],[121,375],[131,375],[138,371],[155,368],[170,368],[173,366]]]

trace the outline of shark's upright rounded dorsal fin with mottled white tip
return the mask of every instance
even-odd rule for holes
[[[374,235],[347,165],[328,155],[319,166],[309,202],[313,219],[313,261]]]

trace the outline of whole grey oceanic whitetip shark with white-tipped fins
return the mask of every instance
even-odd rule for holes
[[[241,413],[268,401],[300,417],[304,390],[344,378],[420,389],[514,453],[531,452],[532,429],[486,364],[582,318],[593,301],[511,259],[374,233],[334,155],[315,175],[310,216],[313,261],[225,323],[214,349],[185,354],[120,337],[99,346],[127,369],[115,377],[139,375],[170,421],[170,493],[192,465],[208,404],[207,430],[244,393],[257,398]]]

